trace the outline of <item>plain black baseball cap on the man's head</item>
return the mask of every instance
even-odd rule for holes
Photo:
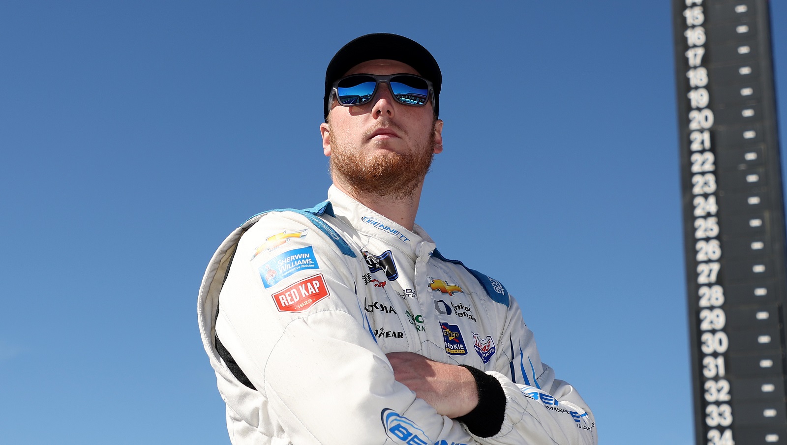
[[[396,34],[367,34],[352,40],[334,55],[325,70],[325,99],[323,109],[328,120],[328,98],[331,86],[341,79],[350,68],[365,61],[388,59],[412,66],[434,86],[434,116],[438,116],[438,97],[442,85],[442,74],[438,62],[418,42]]]

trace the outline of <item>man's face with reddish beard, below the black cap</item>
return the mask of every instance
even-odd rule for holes
[[[345,75],[360,73],[418,74],[408,64],[375,60]],[[334,100],[328,123],[320,125],[334,182],[380,196],[412,196],[434,153],[442,152],[443,123],[434,119],[432,107],[431,101],[423,107],[395,101],[386,83],[364,105],[345,107]]]

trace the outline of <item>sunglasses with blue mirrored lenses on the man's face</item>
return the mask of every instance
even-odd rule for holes
[[[400,104],[423,107],[433,94],[432,83],[412,74],[354,74],[334,82],[331,94],[345,107],[364,105],[375,97],[377,86],[388,84],[393,99]]]

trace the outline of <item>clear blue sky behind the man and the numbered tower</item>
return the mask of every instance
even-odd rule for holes
[[[670,7],[3,1],[0,442],[229,443],[205,265],[324,199],[324,69],[386,31],[444,75],[418,222],[517,297],[602,443],[693,443]]]

